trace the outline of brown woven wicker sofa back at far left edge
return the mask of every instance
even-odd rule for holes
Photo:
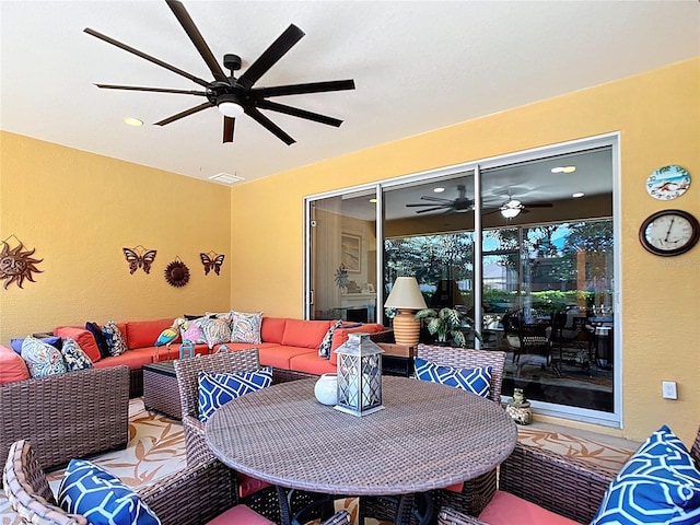
[[[30,440],[46,468],[124,448],[129,439],[129,369],[89,369],[0,385],[0,455]]]

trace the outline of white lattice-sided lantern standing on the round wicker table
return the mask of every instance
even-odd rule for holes
[[[382,350],[369,334],[350,334],[337,350],[338,400],[336,409],[365,416],[382,410]]]

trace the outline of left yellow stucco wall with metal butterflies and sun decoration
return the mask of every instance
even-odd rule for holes
[[[0,343],[65,324],[229,307],[228,187],[7,132],[0,154],[0,240],[15,235],[43,259],[36,282],[0,288]],[[121,248],[137,245],[158,249],[150,275],[129,275]],[[226,255],[220,277],[205,277],[199,253],[210,250]],[[190,270],[183,288],[164,279],[175,257]]]

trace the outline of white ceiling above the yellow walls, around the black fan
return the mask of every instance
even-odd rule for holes
[[[289,24],[300,26],[306,36],[256,86],[354,79],[355,91],[279,100],[343,125],[268,112],[296,139],[291,147],[248,117],[222,144],[215,108],[152,126],[202,101],[92,84],[199,86],[83,28],[210,80],[165,2],[0,0],[1,129],[187,176],[250,180],[700,55],[696,0],[184,3],[214,56],[242,56],[242,71]],[[147,125],[130,128],[127,116]]]

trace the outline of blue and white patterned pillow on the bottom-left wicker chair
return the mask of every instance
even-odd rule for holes
[[[81,514],[91,525],[128,523],[160,525],[161,521],[124,482],[84,459],[71,459],[58,488],[58,504]]]

